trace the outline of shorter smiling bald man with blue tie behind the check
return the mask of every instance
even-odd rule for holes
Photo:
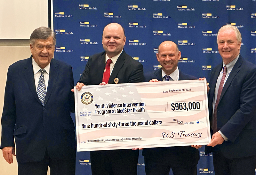
[[[180,56],[181,52],[174,42],[162,42],[156,53],[162,69],[145,74],[145,82],[197,79],[178,69]],[[147,175],[168,175],[171,168],[174,175],[196,175],[199,152],[191,146],[144,148],[142,155]]]

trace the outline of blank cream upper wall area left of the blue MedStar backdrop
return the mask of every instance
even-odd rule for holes
[[[0,39],[29,39],[35,28],[48,26],[48,0],[2,0],[0,13]]]

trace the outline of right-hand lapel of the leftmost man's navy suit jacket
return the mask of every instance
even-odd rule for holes
[[[56,83],[58,76],[59,76],[58,64],[55,62],[54,59],[52,59],[51,65],[50,65],[49,82],[48,82],[48,87],[47,87],[47,91],[46,91],[44,106],[47,103],[47,100],[49,99],[49,97],[52,93],[52,89]]]

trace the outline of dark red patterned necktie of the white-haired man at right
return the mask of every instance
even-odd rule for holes
[[[220,81],[220,86],[219,86],[219,90],[218,90],[218,95],[217,95],[217,99],[216,99],[216,103],[214,106],[214,113],[213,113],[213,134],[218,132],[218,126],[217,126],[217,107],[219,105],[220,102],[220,95],[223,89],[223,84],[224,84],[224,80],[226,77],[226,73],[227,73],[227,66],[223,67],[223,74],[222,74],[222,78]]]

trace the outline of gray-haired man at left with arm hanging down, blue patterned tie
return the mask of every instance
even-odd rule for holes
[[[75,111],[70,65],[52,59],[55,33],[37,28],[30,36],[30,58],[7,73],[2,114],[1,149],[13,163],[14,139],[19,175],[75,174]]]

